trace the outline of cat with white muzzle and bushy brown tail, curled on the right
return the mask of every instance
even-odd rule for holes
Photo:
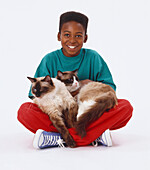
[[[78,114],[75,128],[82,138],[86,135],[86,128],[90,123],[118,104],[112,87],[94,81],[82,85],[77,77],[77,70],[58,71],[56,78],[65,83],[70,93],[80,89],[77,95]]]

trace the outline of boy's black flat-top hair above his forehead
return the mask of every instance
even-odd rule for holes
[[[60,16],[59,33],[61,33],[61,28],[63,24],[69,21],[80,23],[85,29],[85,34],[87,33],[88,17],[84,14],[74,11],[65,12]]]

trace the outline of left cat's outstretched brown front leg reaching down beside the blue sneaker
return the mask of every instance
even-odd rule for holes
[[[72,136],[70,135],[67,127],[65,126],[63,118],[60,115],[61,112],[59,111],[49,113],[50,120],[52,121],[56,129],[59,131],[66,144],[69,147],[74,148],[76,146],[76,143]]]

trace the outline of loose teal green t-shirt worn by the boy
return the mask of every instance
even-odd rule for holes
[[[66,57],[62,49],[48,53],[38,66],[34,77],[50,75],[56,77],[57,71],[73,71],[78,69],[79,80],[90,79],[103,82],[116,90],[112,75],[103,58],[94,50],[82,48],[75,57]],[[31,88],[29,96],[32,96]]]

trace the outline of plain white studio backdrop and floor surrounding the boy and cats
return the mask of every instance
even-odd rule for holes
[[[133,117],[112,132],[114,146],[46,149],[32,147],[33,134],[17,121],[30,101],[30,82],[43,56],[60,48],[59,16],[75,10],[89,17],[85,48],[101,54],[128,99]],[[0,169],[149,170],[150,1],[0,0]]]

